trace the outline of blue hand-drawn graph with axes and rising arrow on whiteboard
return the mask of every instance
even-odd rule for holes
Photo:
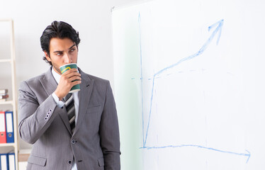
[[[213,30],[213,33],[210,35],[210,37],[208,38],[208,40],[206,40],[206,42],[204,43],[204,45],[198,50],[198,52],[195,52],[193,55],[190,55],[188,57],[184,57],[181,60],[179,60],[178,62],[171,64],[169,67],[165,67],[164,69],[159,70],[159,72],[155,73],[152,77],[152,91],[151,91],[151,102],[150,102],[150,110],[149,110],[149,116],[148,116],[148,121],[147,121],[147,130],[145,132],[145,120],[144,120],[144,110],[143,110],[143,103],[144,103],[144,99],[143,99],[143,77],[142,77],[142,40],[141,40],[141,16],[139,13],[138,16],[138,22],[139,22],[139,33],[140,33],[140,64],[141,64],[141,70],[140,70],[140,80],[141,80],[141,92],[142,92],[142,98],[141,98],[141,102],[142,102],[142,139],[143,139],[143,147],[140,147],[140,149],[164,149],[164,148],[176,148],[176,147],[197,147],[197,148],[201,148],[201,149],[208,149],[208,150],[212,150],[215,152],[222,152],[222,153],[227,153],[227,154],[235,154],[238,156],[244,156],[247,157],[247,162],[249,161],[249,158],[251,156],[250,152],[246,150],[246,153],[236,153],[236,152],[229,152],[229,151],[223,151],[220,149],[214,149],[214,148],[210,148],[210,147],[203,147],[200,145],[168,145],[168,146],[164,146],[164,147],[147,147],[146,146],[146,142],[147,142],[147,137],[148,137],[148,131],[149,131],[149,127],[150,127],[150,118],[152,115],[152,104],[153,104],[153,96],[154,96],[154,85],[155,85],[155,80],[159,77],[160,74],[162,74],[165,71],[168,71],[169,69],[173,69],[175,67],[177,67],[179,64],[181,64],[182,62],[186,62],[188,60],[191,60],[195,57],[198,57],[200,55],[203,54],[203,52],[207,49],[208,45],[210,45],[210,42],[213,41],[213,38],[215,38],[215,36],[217,37],[217,41],[216,41],[216,45],[218,45],[219,40],[220,40],[220,35],[222,33],[222,26],[224,23],[224,20],[220,20],[217,23],[214,23],[213,25],[208,27],[208,31],[212,30],[213,28],[215,28],[215,30]]]

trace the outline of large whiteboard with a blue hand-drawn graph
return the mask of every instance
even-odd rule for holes
[[[113,10],[123,169],[265,169],[265,2]]]

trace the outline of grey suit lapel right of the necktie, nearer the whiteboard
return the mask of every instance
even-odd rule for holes
[[[82,82],[80,84],[79,112],[76,128],[74,129],[74,134],[77,132],[77,130],[79,130],[82,120],[84,120],[84,115],[89,106],[89,101],[94,87],[94,80],[91,80],[87,74],[81,71],[81,69],[79,69],[79,72],[81,74]]]

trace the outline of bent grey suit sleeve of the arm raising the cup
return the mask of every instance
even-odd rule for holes
[[[56,110],[60,111],[62,108],[57,107],[52,95],[39,103],[30,86],[23,81],[18,96],[18,131],[21,139],[34,144],[49,128]]]

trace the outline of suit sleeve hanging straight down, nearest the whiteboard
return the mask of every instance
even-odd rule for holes
[[[101,149],[104,157],[105,170],[120,169],[120,135],[118,116],[111,85],[106,87],[106,101],[101,115],[100,125]]]

